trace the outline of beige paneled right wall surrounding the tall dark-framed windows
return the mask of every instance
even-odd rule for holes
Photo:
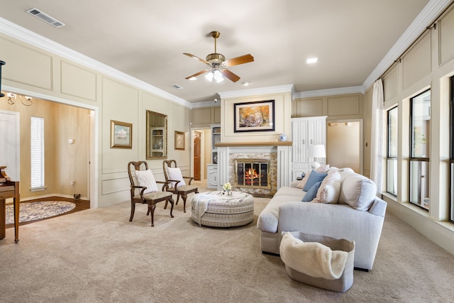
[[[454,9],[427,30],[382,76],[384,108],[398,106],[397,197],[385,194],[388,209],[419,232],[454,253],[449,210],[449,77],[454,75]],[[399,58],[397,58],[399,59]],[[409,99],[431,89],[430,210],[409,204]],[[367,104],[372,101],[367,92]],[[386,130],[383,130],[386,133]],[[385,150],[384,150],[385,152]],[[384,163],[383,163],[384,165]],[[384,172],[386,174],[386,172]]]

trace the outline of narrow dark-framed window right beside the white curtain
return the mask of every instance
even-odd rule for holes
[[[387,113],[387,192],[397,196],[397,106]]]

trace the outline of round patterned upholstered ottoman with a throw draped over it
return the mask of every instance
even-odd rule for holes
[[[200,226],[243,226],[254,220],[254,197],[245,192],[201,192],[191,201],[192,219]]]

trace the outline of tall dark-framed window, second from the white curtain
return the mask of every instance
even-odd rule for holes
[[[429,209],[431,91],[410,99],[410,202]]]

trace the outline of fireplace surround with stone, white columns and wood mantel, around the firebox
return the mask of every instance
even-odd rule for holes
[[[292,142],[246,142],[216,143],[218,149],[218,190],[231,182],[233,190],[248,192],[257,197],[270,197],[282,186],[288,186],[292,180],[290,171],[290,150]],[[248,189],[235,187],[235,159],[270,160],[271,189]]]

